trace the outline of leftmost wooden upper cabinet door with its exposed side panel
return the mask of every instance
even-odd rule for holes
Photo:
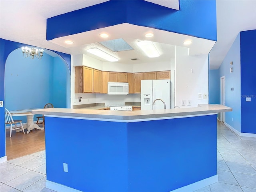
[[[75,93],[92,93],[92,76],[92,68],[75,67]]]

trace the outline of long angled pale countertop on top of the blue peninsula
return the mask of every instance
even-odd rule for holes
[[[70,109],[70,108],[48,108],[32,110],[33,114],[44,114],[44,116],[57,116],[62,118],[80,118],[108,121],[140,121],[168,118],[182,118],[186,116],[202,116],[216,114],[218,112],[232,111],[232,108],[218,104],[200,104],[192,108],[158,109],[158,110],[136,110],[136,111],[111,111],[94,109]]]

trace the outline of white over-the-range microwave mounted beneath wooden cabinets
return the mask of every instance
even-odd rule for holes
[[[109,95],[128,95],[129,84],[118,83],[118,82],[108,82],[108,94]]]

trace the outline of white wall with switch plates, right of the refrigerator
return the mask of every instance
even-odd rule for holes
[[[180,108],[208,104],[208,55],[188,56],[188,48],[176,46],[175,105]],[[191,72],[192,70],[192,72]],[[198,99],[198,93],[207,93],[207,99]],[[186,106],[182,106],[186,100]]]

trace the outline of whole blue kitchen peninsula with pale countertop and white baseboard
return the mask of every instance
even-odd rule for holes
[[[56,191],[194,191],[218,181],[222,105],[110,111],[50,108],[45,116],[46,187]],[[68,172],[63,171],[68,164]]]

